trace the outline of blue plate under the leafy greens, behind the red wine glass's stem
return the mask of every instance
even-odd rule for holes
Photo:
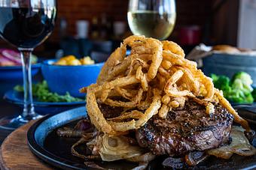
[[[5,93],[4,99],[10,103],[17,104],[23,107],[23,93],[11,90]],[[35,112],[41,115],[55,114],[64,112],[78,106],[85,106],[85,101],[81,102],[40,102],[34,98]]]

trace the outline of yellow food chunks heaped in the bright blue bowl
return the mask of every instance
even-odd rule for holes
[[[68,55],[66,57],[60,58],[59,61],[56,61],[55,65],[88,65],[94,64],[95,61],[92,60],[89,56],[78,59],[74,55]]]

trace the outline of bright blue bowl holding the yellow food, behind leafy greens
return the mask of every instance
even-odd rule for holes
[[[54,62],[56,60],[47,60],[41,64],[41,73],[50,91],[62,95],[68,91],[73,97],[84,97],[84,94],[79,93],[79,89],[96,83],[104,64],[60,66],[53,65]]]

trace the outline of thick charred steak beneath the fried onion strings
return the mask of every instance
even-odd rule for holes
[[[189,100],[183,109],[168,113],[166,119],[155,115],[136,130],[136,140],[153,154],[181,156],[190,151],[218,148],[228,142],[233,115],[222,106],[206,114],[206,107]]]

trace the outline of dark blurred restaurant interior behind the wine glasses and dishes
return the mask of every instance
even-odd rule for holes
[[[58,1],[56,27],[46,43],[35,49],[35,55],[53,58],[110,53],[123,37],[132,34],[126,19],[128,2]],[[256,49],[254,0],[178,0],[176,10],[175,29],[169,40],[181,44],[185,52],[202,42]],[[3,40],[0,46],[13,48]]]

